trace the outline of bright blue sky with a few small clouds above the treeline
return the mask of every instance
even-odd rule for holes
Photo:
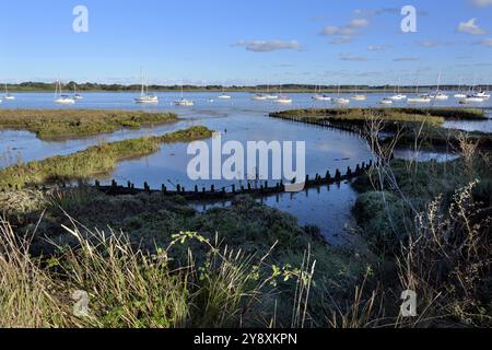
[[[89,33],[72,31],[78,4]],[[400,30],[406,4],[417,33]],[[492,83],[491,20],[492,0],[15,0],[0,81]]]

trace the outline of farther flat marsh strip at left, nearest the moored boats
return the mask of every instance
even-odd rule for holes
[[[1,109],[0,128],[36,132],[40,139],[113,132],[177,121],[173,113],[105,109]]]

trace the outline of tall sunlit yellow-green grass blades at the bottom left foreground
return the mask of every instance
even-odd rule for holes
[[[276,273],[266,264],[268,254],[247,256],[195,232],[180,232],[166,248],[150,254],[121,232],[91,231],[70,221],[71,226],[63,228],[77,245],[57,246],[57,254],[44,258],[33,258],[30,241],[15,236],[9,223],[0,224],[2,327],[258,325],[265,313],[274,318],[274,310],[262,304],[266,295],[272,295],[274,280],[293,279],[298,284],[313,272],[284,268]],[[194,258],[189,241],[206,248],[204,261]],[[169,250],[175,245],[187,246],[187,264],[173,267]],[[87,293],[84,315],[73,312],[75,291]],[[296,315],[303,317],[303,312]]]

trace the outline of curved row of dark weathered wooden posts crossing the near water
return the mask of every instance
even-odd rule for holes
[[[373,166],[373,161],[368,163],[363,162],[358,164],[353,170],[349,166],[347,171],[342,174],[340,170],[336,170],[335,174],[327,171],[325,174],[316,174],[311,177],[306,176],[304,182],[304,189],[318,187],[323,185],[331,185],[341,183],[343,180],[350,180],[356,176],[364,174],[367,170]],[[175,189],[169,189],[164,184],[160,189],[152,189],[145,182],[143,188],[137,188],[133,183],[127,182],[126,186],[119,185],[116,180],[112,180],[112,185],[102,186],[98,180],[95,182],[94,188],[107,194],[107,195],[138,195],[142,192],[155,194],[160,192],[163,196],[181,196],[188,200],[215,200],[215,199],[226,199],[237,195],[250,195],[250,196],[269,196],[274,194],[284,192],[289,184],[284,184],[282,180],[274,184],[269,184],[268,182],[261,183],[259,186],[254,186],[251,183],[247,185],[231,185],[227,187],[215,188],[211,185],[210,188],[201,187],[195,185],[194,188],[187,189],[181,185],[176,185]]]

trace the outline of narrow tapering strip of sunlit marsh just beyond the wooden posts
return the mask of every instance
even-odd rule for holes
[[[0,188],[22,188],[62,180],[87,179],[115,168],[117,162],[156,152],[164,142],[207,139],[212,131],[197,126],[163,136],[141,137],[93,145],[86,150],[0,170]]]

